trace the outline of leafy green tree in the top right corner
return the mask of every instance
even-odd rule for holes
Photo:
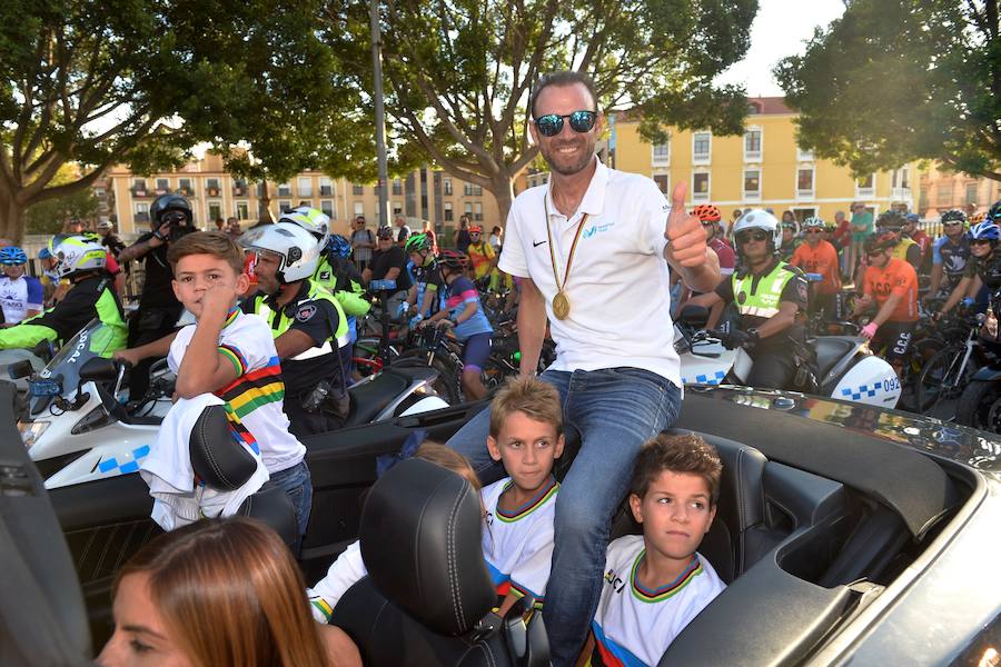
[[[934,159],[1001,180],[998,0],[852,0],[775,69],[800,143],[855,173]]]

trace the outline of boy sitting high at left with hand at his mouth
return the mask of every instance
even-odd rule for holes
[[[191,398],[211,392],[240,418],[260,447],[270,479],[296,508],[299,535],[305,535],[313,502],[306,448],[288,432],[283,409],[285,384],[268,323],[237,307],[237,295],[249,286],[244,252],[225,233],[199,231],[170,245],[174,293],[196,323],[178,331],[167,362],[177,374],[177,395]]]

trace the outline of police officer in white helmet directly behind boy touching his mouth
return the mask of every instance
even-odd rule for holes
[[[248,231],[240,242],[257,255],[260,288],[242,309],[264,317],[276,336],[291,432],[303,438],[340,428],[350,407],[340,350],[349,352],[350,341],[337,299],[313,279],[319,245],[289,222]]]

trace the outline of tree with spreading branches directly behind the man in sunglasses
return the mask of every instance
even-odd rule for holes
[[[371,89],[368,2],[328,0],[328,41]],[[542,73],[589,73],[605,111],[664,125],[742,131],[746,102],[713,78],[749,47],[757,0],[387,0],[381,3],[388,131],[398,156],[423,153],[482,186],[506,219],[512,183],[535,158],[529,87]],[[334,39],[350,36],[349,39]]]

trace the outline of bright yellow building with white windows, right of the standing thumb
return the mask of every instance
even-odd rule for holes
[[[875,213],[891,206],[914,209],[915,163],[855,180],[849,169],[800,150],[796,115],[783,98],[747,102],[742,137],[672,129],[668,141],[657,146],[640,137],[638,118],[613,115],[607,119],[609,161],[616,169],[648,175],[667,195],[683,180],[690,206],[714,203],[725,219],[747,207],[771,208],[776,216],[791,210],[800,220],[820,216],[827,221],[836,211],[850,215],[853,201]]]

